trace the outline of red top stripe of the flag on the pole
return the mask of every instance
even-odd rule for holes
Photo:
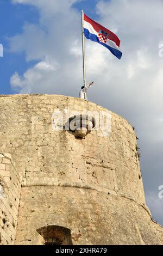
[[[114,41],[115,44],[120,47],[120,39],[118,38],[118,36],[114,33],[112,33],[109,29],[103,27],[102,25],[98,24],[96,21],[91,20],[89,17],[87,17],[84,14],[84,20],[89,22],[92,27],[97,31],[97,33],[99,33],[99,30],[103,30],[104,32],[108,33],[108,39],[111,41]]]

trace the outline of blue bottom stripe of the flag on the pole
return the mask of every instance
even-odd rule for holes
[[[108,48],[108,50],[109,50],[112,54],[114,54],[114,56],[116,56],[118,59],[121,59],[121,57],[122,57],[122,52],[118,51],[118,50],[115,49],[115,48],[112,48],[112,47],[109,46],[109,45],[104,44],[104,42],[100,42],[99,39],[98,39],[98,37],[97,37],[97,35],[91,34],[91,33],[89,32],[89,30],[86,29],[86,28],[84,28],[84,35],[85,35],[85,37],[86,37],[87,39],[90,39],[91,41],[94,41],[94,42],[98,42],[98,44],[101,44],[101,45],[103,45],[104,47]]]

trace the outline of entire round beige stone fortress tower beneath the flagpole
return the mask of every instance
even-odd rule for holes
[[[54,109],[64,108],[109,113],[109,136],[54,130]],[[163,243],[135,132],[119,115],[74,97],[1,95],[0,138],[1,245]]]

